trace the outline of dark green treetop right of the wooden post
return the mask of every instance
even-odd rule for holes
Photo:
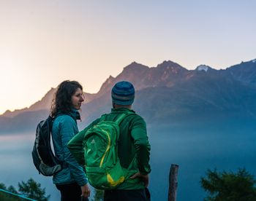
[[[218,173],[217,169],[207,170],[201,178],[201,186],[208,192],[209,201],[253,201],[256,200],[256,181],[245,169],[237,173]]]

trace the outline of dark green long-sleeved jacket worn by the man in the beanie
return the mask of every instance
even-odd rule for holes
[[[146,122],[138,114],[135,114],[135,111],[126,108],[112,109],[111,113],[107,115],[106,120],[115,121],[120,114],[127,111],[133,114],[126,117],[120,124],[118,157],[121,166],[129,170],[129,176],[117,189],[143,189],[143,182],[139,178],[130,179],[129,177],[138,171],[145,175],[151,172],[149,165],[150,145],[146,133]],[[99,119],[96,119],[91,125],[75,135],[67,145],[80,165],[85,165],[83,151],[84,134],[90,127],[96,125]]]

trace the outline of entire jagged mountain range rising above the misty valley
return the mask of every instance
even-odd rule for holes
[[[200,65],[187,70],[167,60],[157,67],[131,63],[118,76],[109,76],[99,92],[85,92],[82,127],[111,108],[110,90],[121,80],[135,86],[134,109],[149,126],[193,125],[255,121],[256,60],[242,62],[225,70]],[[0,133],[35,130],[48,117],[56,88],[29,108],[6,111],[0,116]]]

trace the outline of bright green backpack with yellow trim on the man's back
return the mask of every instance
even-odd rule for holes
[[[116,122],[107,121],[106,114],[102,115],[100,121],[85,133],[86,175],[89,184],[96,189],[115,189],[126,178],[118,158],[117,143],[119,124],[128,115],[121,114]]]

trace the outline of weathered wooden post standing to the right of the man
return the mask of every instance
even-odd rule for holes
[[[178,165],[170,165],[168,201],[176,201],[178,187]]]

